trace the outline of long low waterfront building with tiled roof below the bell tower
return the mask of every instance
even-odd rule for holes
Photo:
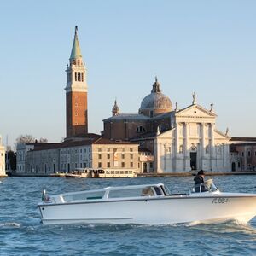
[[[114,142],[95,134],[88,136],[27,151],[24,173],[45,175],[77,168],[139,172],[137,143]]]

